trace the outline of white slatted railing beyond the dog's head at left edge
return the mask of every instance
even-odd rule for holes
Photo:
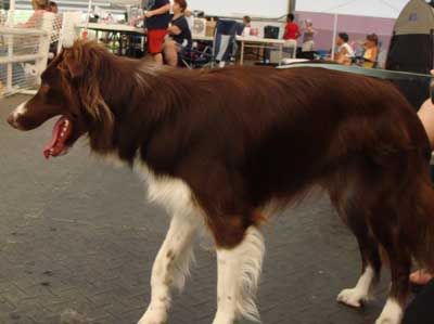
[[[80,22],[81,12],[28,18],[28,13],[11,10],[5,26],[0,26],[0,98],[35,92],[49,59],[78,37],[74,26]]]

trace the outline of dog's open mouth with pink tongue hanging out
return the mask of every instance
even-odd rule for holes
[[[73,124],[66,117],[61,117],[53,128],[51,142],[43,148],[43,156],[49,159],[50,156],[60,156],[67,153],[65,144],[73,130]]]

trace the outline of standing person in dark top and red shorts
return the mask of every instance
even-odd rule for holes
[[[163,65],[163,44],[170,22],[170,2],[150,0],[146,9],[144,16],[148,28],[148,51],[157,64]]]

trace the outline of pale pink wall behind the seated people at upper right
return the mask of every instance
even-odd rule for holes
[[[330,50],[333,40],[334,15],[327,13],[297,12],[297,21],[310,20],[314,29],[317,30],[315,39],[316,50]],[[337,33],[345,31],[349,36],[349,42],[363,40],[366,35],[375,33],[382,42],[381,50],[387,50],[391,41],[395,20],[362,17],[353,15],[340,15],[337,20]],[[303,24],[301,24],[303,26]]]

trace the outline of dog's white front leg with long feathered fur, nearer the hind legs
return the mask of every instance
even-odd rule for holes
[[[217,313],[213,324],[233,324],[240,317],[258,321],[255,295],[265,254],[264,237],[251,225],[235,247],[217,242]]]

